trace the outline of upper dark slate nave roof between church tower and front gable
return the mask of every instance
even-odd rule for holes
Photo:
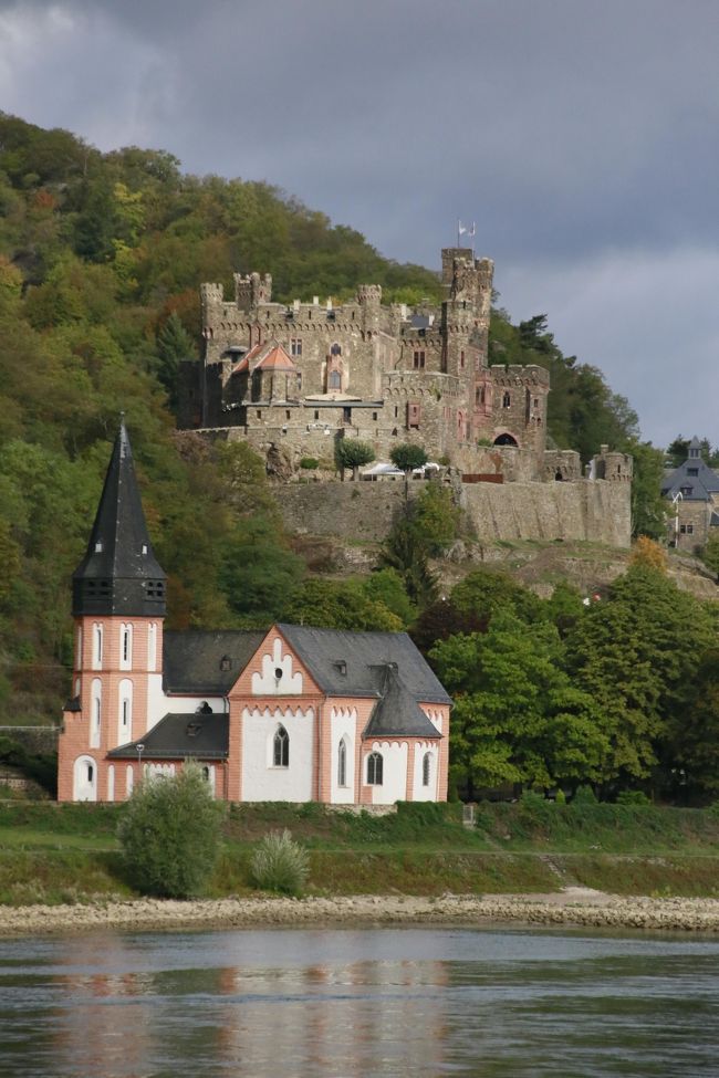
[[[265,636],[267,631],[262,629],[166,631],[163,663],[165,691],[223,695],[232,688]]]

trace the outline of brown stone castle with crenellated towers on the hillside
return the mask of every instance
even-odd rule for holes
[[[628,545],[631,458],[602,447],[585,477],[576,452],[548,450],[549,371],[489,364],[493,262],[446,248],[441,264],[445,299],[415,307],[383,304],[376,284],[338,305],[273,302],[269,274],[235,274],[231,301],[222,285],[202,284],[204,354],[181,365],[180,426],[241,438],[281,459],[284,478],[306,458],[332,468],[337,441],[353,438],[377,460],[420,444],[465,483],[617,483],[608,531],[606,495],[594,490],[580,498],[576,534],[562,535],[564,507],[544,514],[559,520],[546,536],[530,532]]]

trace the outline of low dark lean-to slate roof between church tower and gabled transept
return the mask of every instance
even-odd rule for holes
[[[137,741],[119,745],[107,753],[108,760],[137,760],[142,745],[143,760],[225,760],[229,752],[228,714],[167,714]]]

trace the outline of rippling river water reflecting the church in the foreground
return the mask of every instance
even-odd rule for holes
[[[719,1075],[719,941],[247,930],[0,943],[2,1078]]]

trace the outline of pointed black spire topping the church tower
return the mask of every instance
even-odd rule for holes
[[[87,553],[73,574],[72,613],[163,617],[165,579],[147,534],[123,420]]]

